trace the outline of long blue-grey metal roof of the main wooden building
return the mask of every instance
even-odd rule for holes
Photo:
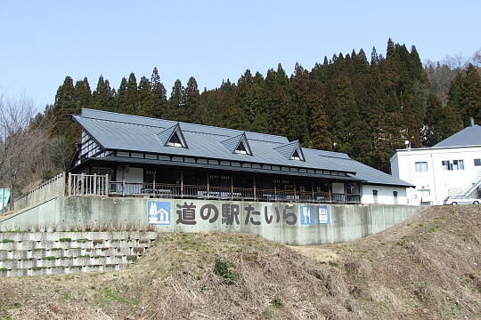
[[[368,183],[411,187],[403,180],[395,179],[387,173],[358,163],[346,154],[338,152],[299,148],[305,161],[290,160],[286,156],[287,153],[280,150],[293,151],[298,146],[298,141],[290,142],[286,137],[86,108],[82,109],[81,115],[75,115],[73,118],[105,149],[349,172],[355,174],[357,179]],[[176,124],[182,130],[188,148],[170,147],[160,143],[159,133],[163,132],[160,134],[163,138],[170,132],[167,129],[175,127]],[[226,148],[224,144],[229,141],[233,145],[233,141],[240,139],[242,134],[245,134],[248,140],[252,155],[232,153],[231,148]],[[228,143],[228,146],[231,144]],[[292,153],[289,156],[291,155]],[[331,176],[330,178],[332,179]]]

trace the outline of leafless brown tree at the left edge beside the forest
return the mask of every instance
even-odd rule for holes
[[[36,114],[32,100],[10,100],[0,93],[0,182],[11,188],[11,208],[17,180],[38,163],[48,144],[47,128]]]

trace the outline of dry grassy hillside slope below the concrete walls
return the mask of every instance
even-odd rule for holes
[[[0,319],[474,319],[481,206],[429,208],[348,244],[160,234],[132,268],[0,278]]]

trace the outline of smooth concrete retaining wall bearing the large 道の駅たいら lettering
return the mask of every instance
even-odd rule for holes
[[[421,208],[408,205],[249,203],[239,201],[59,196],[0,220],[0,231],[86,224],[154,225],[159,231],[244,232],[293,245],[335,244],[378,233]]]

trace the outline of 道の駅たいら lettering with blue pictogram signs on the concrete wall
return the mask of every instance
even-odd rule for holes
[[[149,201],[148,221],[156,225],[196,225],[198,222],[232,225],[329,225],[330,206],[206,201]],[[218,203],[218,202],[216,202]]]

